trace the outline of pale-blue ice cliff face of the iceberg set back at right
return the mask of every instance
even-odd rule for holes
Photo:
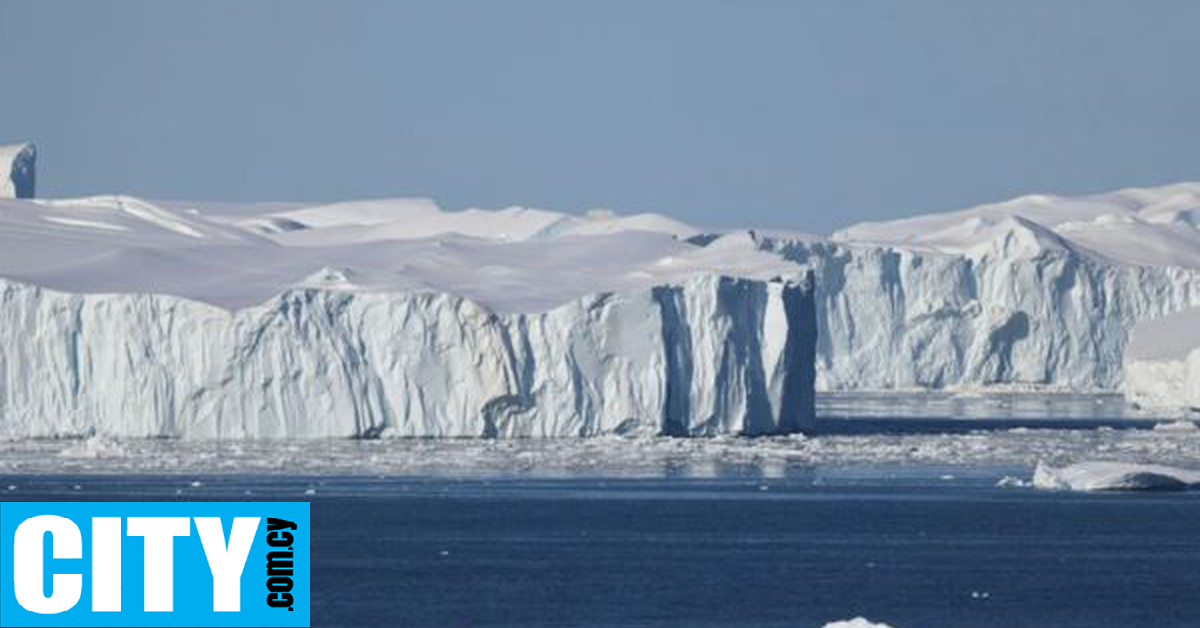
[[[1120,264],[1019,222],[962,253],[760,237],[810,265],[817,389],[1118,390],[1138,322],[1200,305],[1200,271]]]

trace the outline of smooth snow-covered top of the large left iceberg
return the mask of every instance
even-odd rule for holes
[[[803,276],[748,238],[700,247],[679,238],[690,233],[670,219],[443,211],[424,199],[299,209],[124,196],[8,201],[0,202],[0,276],[73,293],[170,294],[227,310],[295,287],[446,292],[504,313],[702,274]]]

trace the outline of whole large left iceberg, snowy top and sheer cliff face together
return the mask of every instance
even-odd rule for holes
[[[624,220],[406,199],[2,201],[0,436],[713,435],[810,421],[806,270],[749,238],[701,247]],[[644,223],[676,227],[629,222]]]

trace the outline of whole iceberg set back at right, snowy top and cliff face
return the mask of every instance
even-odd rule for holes
[[[817,388],[1118,390],[1129,330],[1200,306],[1200,184],[757,235],[811,265]]]

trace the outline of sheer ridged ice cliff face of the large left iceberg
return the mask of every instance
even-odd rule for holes
[[[236,311],[0,280],[0,436],[775,433],[814,417],[811,279],[697,275],[497,315],[293,289]]]

